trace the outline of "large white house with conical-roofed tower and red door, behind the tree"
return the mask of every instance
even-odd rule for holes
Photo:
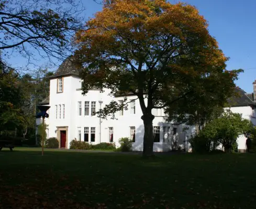
[[[118,120],[102,120],[95,111],[103,108],[110,101],[124,102],[125,99],[136,99],[134,95],[113,97],[108,95],[109,90],[100,92],[91,89],[86,95],[82,95],[81,78],[72,65],[72,61],[66,59],[50,77],[50,95],[43,100],[41,105],[49,105],[49,118],[46,119],[48,137],[57,137],[60,148],[69,148],[74,139],[86,141],[92,144],[101,142],[115,142],[121,137],[130,137],[133,141],[132,149],[142,151],[143,149],[143,121],[141,120],[141,108],[138,100],[129,103],[128,110],[119,111],[115,114]],[[244,118],[248,118],[255,124],[255,103],[245,94],[243,101],[236,102],[232,111],[240,112]],[[246,97],[246,98],[244,98]],[[194,134],[194,128],[183,131],[185,125],[175,125],[165,121],[166,115],[163,110],[152,111],[155,118],[154,126],[154,152],[167,152],[172,149],[190,149],[188,138]],[[41,121],[37,120],[37,124]],[[239,138],[239,149],[246,148],[245,138]]]

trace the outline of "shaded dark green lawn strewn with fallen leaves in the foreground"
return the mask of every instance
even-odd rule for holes
[[[256,155],[0,152],[0,208],[256,208]]]

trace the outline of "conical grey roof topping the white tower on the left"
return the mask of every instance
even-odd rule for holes
[[[57,77],[57,76],[62,76],[62,75],[79,75],[79,70],[76,68],[75,66],[75,60],[74,60],[74,56],[69,56],[68,58],[66,58],[61,65],[59,66],[59,68],[57,69],[57,71],[54,73],[54,75],[52,77]]]

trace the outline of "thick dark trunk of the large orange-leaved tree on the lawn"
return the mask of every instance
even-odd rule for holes
[[[142,115],[141,119],[144,123],[144,137],[143,137],[143,156],[151,157],[154,156],[153,145],[154,145],[154,136],[153,136],[153,119],[154,115],[151,113],[148,115]]]

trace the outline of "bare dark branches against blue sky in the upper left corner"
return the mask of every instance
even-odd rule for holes
[[[21,55],[28,63],[36,57],[65,58],[72,51],[74,32],[83,28],[83,10],[82,3],[76,0],[1,1],[2,58]]]

